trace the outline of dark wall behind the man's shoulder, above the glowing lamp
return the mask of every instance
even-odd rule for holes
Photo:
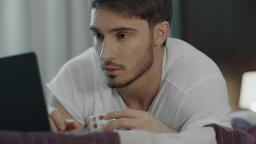
[[[217,63],[238,110],[242,74],[256,71],[256,1],[181,0],[179,7],[180,38]]]

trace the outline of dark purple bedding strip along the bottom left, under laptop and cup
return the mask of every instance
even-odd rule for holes
[[[118,133],[91,133],[87,135],[56,134],[51,132],[22,133],[0,131],[1,144],[119,144]]]

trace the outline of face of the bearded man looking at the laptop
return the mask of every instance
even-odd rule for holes
[[[153,37],[146,20],[97,7],[91,10],[90,29],[109,87],[126,87],[152,67]]]

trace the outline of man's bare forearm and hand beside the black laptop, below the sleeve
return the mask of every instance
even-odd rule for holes
[[[85,131],[83,124],[75,120],[70,120],[74,118],[67,112],[54,95],[51,99],[50,107],[48,107],[48,115],[52,131],[72,131],[78,133],[83,133]]]

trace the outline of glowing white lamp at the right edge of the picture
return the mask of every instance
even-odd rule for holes
[[[239,106],[256,112],[256,71],[246,72],[242,76]]]

